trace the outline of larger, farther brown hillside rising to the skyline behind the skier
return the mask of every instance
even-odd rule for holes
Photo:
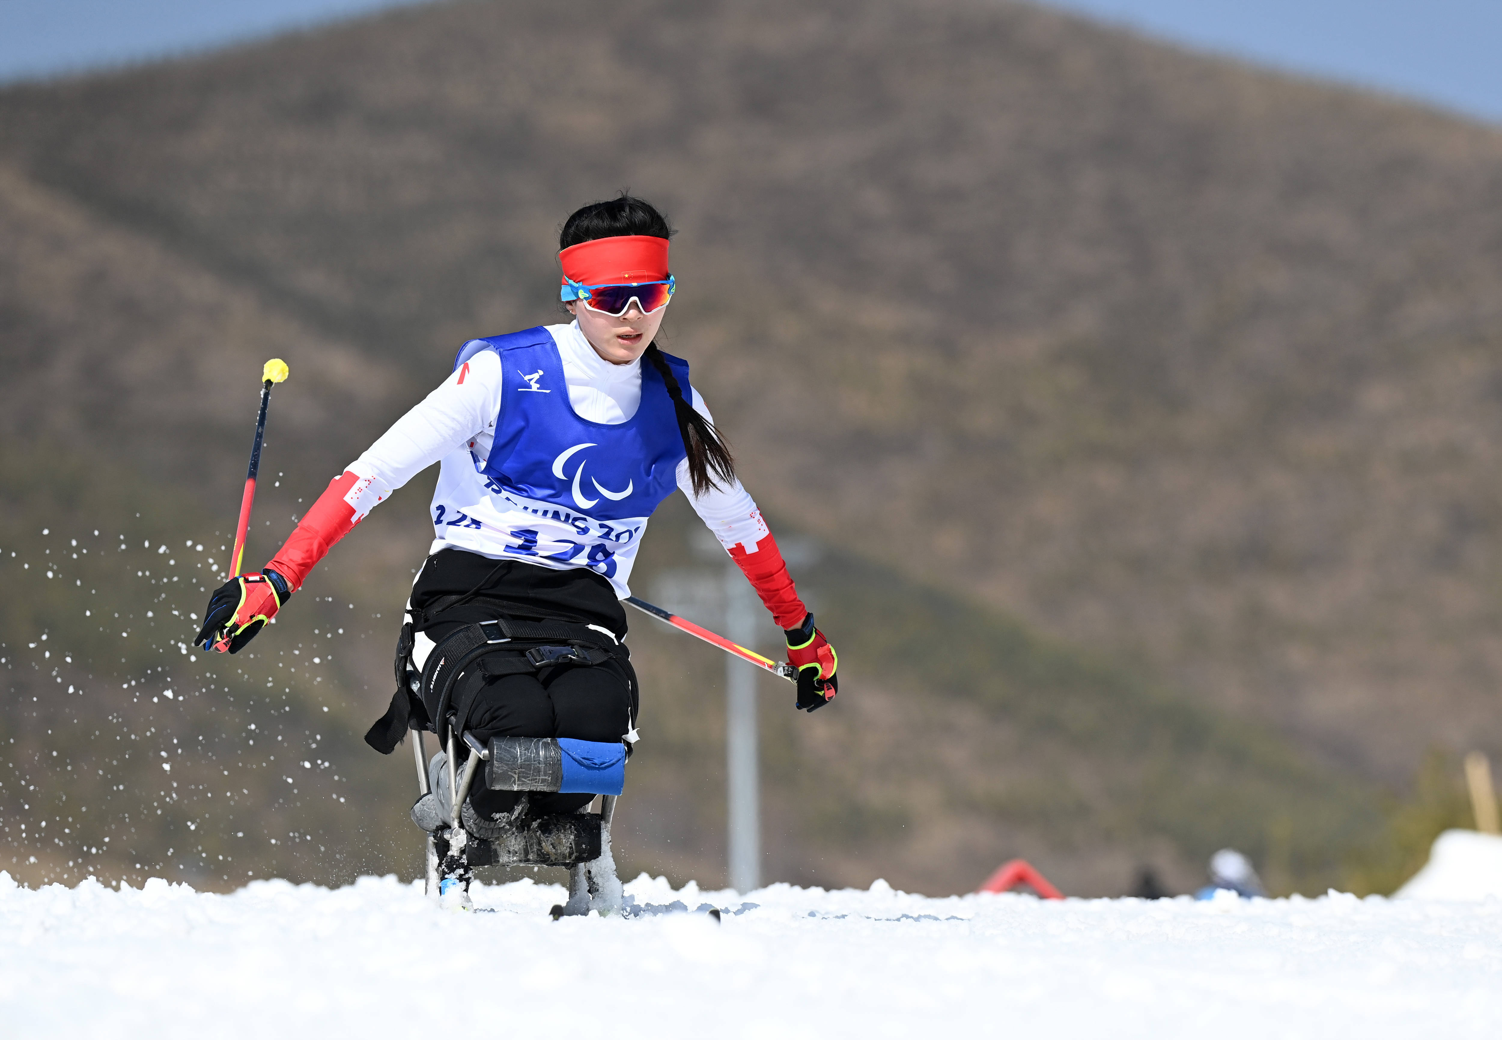
[[[1502,741],[1494,131],[1021,5],[581,12],[12,89],[0,152],[421,383],[631,185],[769,505],[1370,772]]]

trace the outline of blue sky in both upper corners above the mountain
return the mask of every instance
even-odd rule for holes
[[[221,47],[412,2],[0,0],[0,81]],[[1197,50],[1502,123],[1502,0],[1045,3]]]

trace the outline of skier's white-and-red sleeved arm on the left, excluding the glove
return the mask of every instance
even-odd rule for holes
[[[291,591],[302,588],[314,565],[377,503],[494,428],[503,385],[494,350],[481,350],[460,365],[329,484],[266,570],[285,579]]]

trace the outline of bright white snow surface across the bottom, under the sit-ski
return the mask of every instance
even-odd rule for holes
[[[553,921],[563,890],[530,881],[476,885],[493,912],[464,914],[395,878],[219,896],[0,873],[0,1034],[1502,1035],[1494,897],[930,899],[879,881],[742,900],[644,875],[626,893],[646,912]]]

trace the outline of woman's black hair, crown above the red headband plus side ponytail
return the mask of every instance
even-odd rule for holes
[[[658,239],[670,239],[673,227],[652,203],[620,192],[619,198],[590,203],[574,210],[563,221],[563,230],[559,233],[559,249],[622,234],[650,234]],[[667,386],[668,397],[673,398],[677,433],[683,437],[683,451],[688,454],[688,475],[694,484],[694,494],[703,494],[710,487],[731,482],[736,478],[736,461],[730,455],[730,446],[715,430],[715,424],[683,400],[683,388],[677,385],[677,377],[668,367],[667,358],[658,350],[656,340],[647,346],[641,359],[656,368]]]

